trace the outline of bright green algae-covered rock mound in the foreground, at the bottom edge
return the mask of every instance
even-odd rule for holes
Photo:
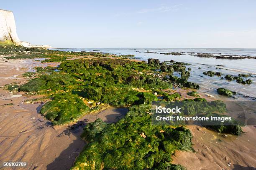
[[[134,105],[115,124],[98,119],[85,126],[81,137],[89,143],[72,169],[180,167],[170,163],[171,156],[175,150],[192,150],[190,131],[183,127],[153,126],[147,114],[149,109],[147,104]]]

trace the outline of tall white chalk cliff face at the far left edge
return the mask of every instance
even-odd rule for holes
[[[0,41],[9,40],[15,45],[21,45],[16,33],[16,25],[13,12],[0,10]]]

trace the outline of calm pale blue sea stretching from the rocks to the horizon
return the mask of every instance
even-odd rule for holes
[[[246,101],[253,100],[250,97],[256,97],[256,59],[241,59],[241,60],[228,60],[228,59],[215,59],[195,57],[187,54],[187,52],[195,53],[221,53],[222,55],[244,55],[244,56],[256,56],[256,49],[218,49],[218,48],[65,48],[54,49],[63,51],[93,51],[111,53],[116,55],[135,55],[136,59],[147,60],[148,58],[157,58],[161,61],[180,61],[187,62],[192,65],[192,71],[190,72],[189,81],[196,82],[200,85],[200,92],[211,94],[217,99],[232,100],[232,101]],[[156,54],[146,53],[146,51],[157,52]],[[164,52],[185,52],[185,55],[164,55],[160,53]],[[216,69],[216,65],[224,65],[222,69]],[[200,67],[201,69],[198,69]],[[222,80],[220,77],[209,77],[203,75],[204,71],[222,72],[224,77],[227,74],[238,76],[239,73],[252,74],[251,77],[243,77],[243,79],[251,79],[253,83],[251,85],[243,85],[236,81]],[[174,75],[179,75],[178,72],[174,72]],[[227,87],[231,91],[238,92],[237,99],[223,98],[217,94],[216,89],[220,87]],[[250,96],[245,98],[244,95]]]

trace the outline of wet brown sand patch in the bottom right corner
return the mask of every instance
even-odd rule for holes
[[[177,151],[173,163],[188,170],[255,170],[256,127],[243,127],[242,135],[223,134],[199,126],[187,126],[192,132],[195,153]]]

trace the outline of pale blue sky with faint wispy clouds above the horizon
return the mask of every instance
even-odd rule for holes
[[[53,47],[256,48],[256,0],[5,0],[20,40]]]

